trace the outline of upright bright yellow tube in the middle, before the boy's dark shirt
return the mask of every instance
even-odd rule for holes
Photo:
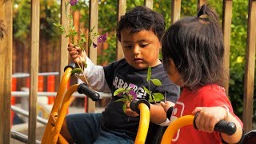
[[[150,109],[145,103],[140,103],[138,110],[140,111],[140,119],[134,144],[144,144],[150,125]]]

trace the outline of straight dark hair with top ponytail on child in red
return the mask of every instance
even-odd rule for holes
[[[162,38],[163,65],[171,75],[173,60],[184,87],[197,90],[206,84],[222,86],[224,44],[218,14],[203,5],[195,17],[182,18]]]

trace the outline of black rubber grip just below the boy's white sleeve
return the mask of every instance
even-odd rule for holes
[[[86,96],[92,99],[93,101],[98,101],[98,99],[100,98],[100,95],[94,90],[90,89],[90,87],[88,87],[85,83],[81,83],[78,86],[78,93],[86,94]]]

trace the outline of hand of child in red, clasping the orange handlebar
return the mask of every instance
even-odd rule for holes
[[[220,120],[225,120],[227,118],[227,111],[222,106],[214,106],[214,107],[197,107],[194,109],[192,114],[199,113],[195,124],[198,130],[202,130],[208,133],[212,133],[214,131],[214,126]]]

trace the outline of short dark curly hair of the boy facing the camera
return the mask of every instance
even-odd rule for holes
[[[121,41],[121,30],[130,28],[131,33],[141,30],[152,30],[161,40],[165,32],[166,22],[162,14],[151,10],[146,6],[136,6],[134,9],[122,15],[117,26],[117,37]]]

